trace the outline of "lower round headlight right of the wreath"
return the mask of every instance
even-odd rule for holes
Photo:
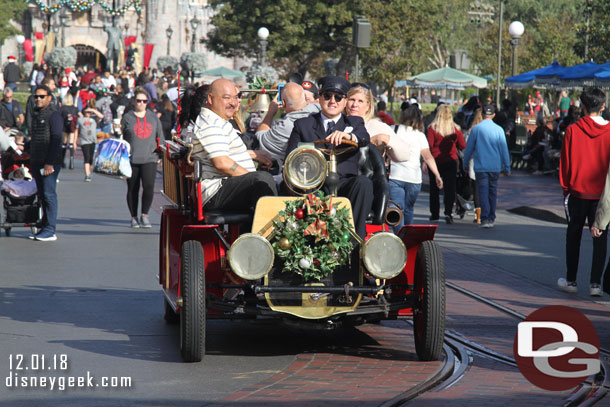
[[[407,249],[393,233],[376,233],[362,248],[364,266],[373,276],[382,279],[396,277],[407,264]]]

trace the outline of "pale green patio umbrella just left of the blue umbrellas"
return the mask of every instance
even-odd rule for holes
[[[404,81],[396,82],[396,86],[401,86],[401,83],[404,86]],[[415,75],[409,78],[406,84],[419,88],[485,88],[487,87],[487,80],[467,72],[445,67]]]

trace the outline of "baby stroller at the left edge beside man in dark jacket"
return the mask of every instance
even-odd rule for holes
[[[2,210],[0,228],[10,236],[13,227],[29,227],[36,234],[42,225],[42,205],[38,198],[36,182],[26,166],[29,157],[2,154]],[[15,168],[16,167],[16,168]]]

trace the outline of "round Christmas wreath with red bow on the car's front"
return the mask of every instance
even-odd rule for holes
[[[283,272],[320,281],[344,265],[352,252],[350,212],[333,205],[331,196],[318,191],[303,199],[286,201],[273,222],[273,248],[283,261]]]

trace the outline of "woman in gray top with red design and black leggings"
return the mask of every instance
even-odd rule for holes
[[[136,88],[133,103],[135,110],[126,113],[121,121],[123,138],[131,145],[131,178],[127,180],[127,206],[131,213],[132,228],[150,228],[148,211],[152,205],[155,175],[157,173],[157,143],[162,143],[163,127],[157,115],[147,110],[148,93]],[[138,200],[142,184],[142,214],[138,222]]]

